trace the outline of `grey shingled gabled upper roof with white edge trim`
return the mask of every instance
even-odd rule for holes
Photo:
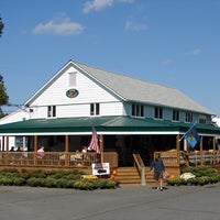
[[[72,65],[85,75],[91,77],[95,81],[101,84],[106,89],[113,92],[122,100],[213,114],[211,111],[175,88],[135,79],[125,75],[114,74],[74,61],[69,61],[50,81],[44,85],[44,87],[28,100],[25,105],[31,103],[32,100],[42,94],[45,88],[53,84],[53,81]]]

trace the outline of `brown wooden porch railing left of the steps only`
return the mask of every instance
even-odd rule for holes
[[[92,163],[109,163],[110,167],[118,167],[117,152],[103,152],[102,155],[94,152],[0,152],[0,166],[29,167],[90,167]]]

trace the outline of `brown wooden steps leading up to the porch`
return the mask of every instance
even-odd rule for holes
[[[146,185],[155,184],[153,174],[148,167],[145,167]],[[136,167],[119,167],[117,168],[116,179],[119,180],[120,185],[141,185],[141,176]]]

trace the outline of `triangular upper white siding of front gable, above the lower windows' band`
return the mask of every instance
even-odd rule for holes
[[[69,74],[77,72],[73,67],[66,70],[54,84],[52,84],[32,105],[33,106],[53,106],[53,105],[70,105],[70,103],[90,103],[90,102],[109,102],[116,101],[116,97],[101,88],[95,81],[84,74],[77,72],[77,86],[74,89],[79,91],[75,98],[68,98],[66,91],[69,87]]]

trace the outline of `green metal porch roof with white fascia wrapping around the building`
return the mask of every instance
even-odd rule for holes
[[[95,127],[102,134],[178,134],[185,133],[191,124],[131,117],[82,117],[63,119],[31,119],[2,124],[1,135],[64,135],[90,134]],[[220,128],[197,124],[205,135],[220,133]]]

